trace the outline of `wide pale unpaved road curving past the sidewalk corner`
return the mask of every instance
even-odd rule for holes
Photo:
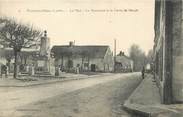
[[[138,86],[138,73],[0,89],[2,117],[130,117],[121,105]]]

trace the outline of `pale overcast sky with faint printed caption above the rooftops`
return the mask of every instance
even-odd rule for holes
[[[0,14],[47,30],[52,46],[153,47],[154,0],[0,0]]]

